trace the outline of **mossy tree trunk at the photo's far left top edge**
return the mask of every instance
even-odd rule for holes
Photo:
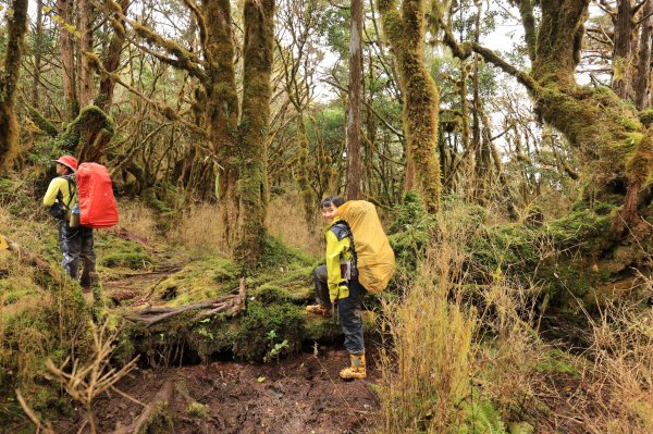
[[[7,51],[0,71],[0,172],[9,170],[19,153],[20,126],[15,100],[23,54],[23,37],[27,30],[27,0],[13,0],[9,17]]]

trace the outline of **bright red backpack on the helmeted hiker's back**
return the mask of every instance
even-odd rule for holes
[[[118,224],[118,207],[107,168],[97,163],[82,163],[75,178],[79,223],[94,228]]]

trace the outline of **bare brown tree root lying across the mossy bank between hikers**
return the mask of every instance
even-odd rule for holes
[[[124,318],[133,322],[145,324],[146,327],[149,327],[184,312],[199,310],[200,312],[194,318],[195,321],[198,321],[221,312],[229,312],[234,315],[245,309],[246,301],[247,292],[245,288],[245,280],[241,278],[241,286],[237,295],[186,305],[180,308],[148,306],[147,308],[127,314]]]

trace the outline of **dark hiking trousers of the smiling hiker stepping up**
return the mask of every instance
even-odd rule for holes
[[[326,265],[320,265],[316,269],[316,300],[325,308],[331,308],[331,297],[329,295],[329,284]],[[365,340],[362,337],[362,298],[367,290],[358,281],[349,281],[349,297],[337,300],[337,313],[341,326],[345,335],[345,348],[352,355],[360,355],[365,351]]]

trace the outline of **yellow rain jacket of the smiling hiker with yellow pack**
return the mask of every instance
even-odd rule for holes
[[[345,231],[338,225],[340,218],[324,230],[326,238],[326,274],[329,284],[329,297],[331,302],[349,297],[347,281],[342,274],[341,264],[347,265],[352,261],[352,243]]]

